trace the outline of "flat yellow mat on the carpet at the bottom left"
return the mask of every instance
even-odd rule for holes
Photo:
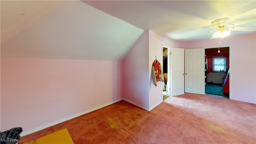
[[[70,137],[67,128],[64,128],[24,144],[74,144],[74,142]]]

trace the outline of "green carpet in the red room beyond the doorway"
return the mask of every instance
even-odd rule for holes
[[[222,92],[222,84],[206,83],[205,93],[229,98],[229,94],[224,94]]]

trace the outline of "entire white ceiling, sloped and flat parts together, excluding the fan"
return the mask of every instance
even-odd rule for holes
[[[210,39],[211,29],[202,27],[218,18],[234,23],[256,16],[255,0],[1,0],[0,6],[1,58],[121,60],[144,30],[181,43]]]

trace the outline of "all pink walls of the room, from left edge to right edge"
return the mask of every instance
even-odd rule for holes
[[[248,34],[222,40],[232,48],[234,100],[256,103],[255,38]],[[216,40],[179,46],[146,30],[123,62],[2,58],[0,130],[20,126],[26,132],[122,98],[151,110],[162,100],[161,82],[155,87],[151,75],[155,56],[162,64],[162,45],[202,48],[216,46]]]

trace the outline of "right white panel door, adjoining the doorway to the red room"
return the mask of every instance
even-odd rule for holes
[[[204,94],[204,49],[185,50],[185,92]]]

